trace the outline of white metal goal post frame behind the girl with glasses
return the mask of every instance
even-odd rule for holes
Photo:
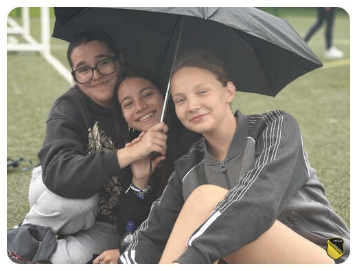
[[[38,51],[65,80],[72,83],[70,71],[51,55],[49,8],[41,7],[41,42],[36,41],[30,34],[30,8],[21,8],[21,19],[22,25],[8,16],[8,51]],[[14,35],[21,35],[26,43],[18,43]]]

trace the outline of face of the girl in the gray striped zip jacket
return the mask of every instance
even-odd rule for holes
[[[235,86],[226,86],[216,75],[196,67],[183,67],[171,80],[171,94],[176,115],[183,125],[200,134],[210,134],[222,128],[222,123],[231,115]]]

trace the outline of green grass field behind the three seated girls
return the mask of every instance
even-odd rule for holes
[[[313,10],[279,9],[278,16],[289,21],[301,36],[314,23]],[[16,14],[15,14],[16,15]],[[14,16],[15,16],[14,15]],[[40,23],[32,16],[32,34],[39,37]],[[350,65],[349,17],[343,10],[336,16],[334,45],[342,49],[342,60],[324,60],[323,30],[309,43],[324,67],[298,78],[277,95],[240,93],[234,108],[242,113],[263,113],[281,109],[295,116],[303,134],[309,160],[325,185],[332,207],[350,222]],[[52,53],[67,65],[67,43],[52,39]],[[37,152],[45,136],[45,121],[51,104],[69,84],[39,54],[8,54],[7,156],[22,156],[38,163]],[[15,170],[7,174],[7,227],[23,220],[28,210],[27,189],[31,172]]]

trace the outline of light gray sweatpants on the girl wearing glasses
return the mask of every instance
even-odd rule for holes
[[[52,263],[86,263],[93,254],[119,247],[116,227],[95,221],[98,196],[69,199],[52,193],[43,184],[41,166],[32,171],[29,204],[23,224],[49,226],[63,236],[57,241]]]

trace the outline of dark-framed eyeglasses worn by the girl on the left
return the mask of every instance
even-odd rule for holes
[[[86,84],[93,80],[94,70],[97,70],[98,73],[101,75],[110,75],[115,72],[115,60],[117,59],[116,56],[112,58],[105,58],[104,60],[100,60],[95,67],[82,67],[76,69],[71,72],[74,80],[79,84]]]

